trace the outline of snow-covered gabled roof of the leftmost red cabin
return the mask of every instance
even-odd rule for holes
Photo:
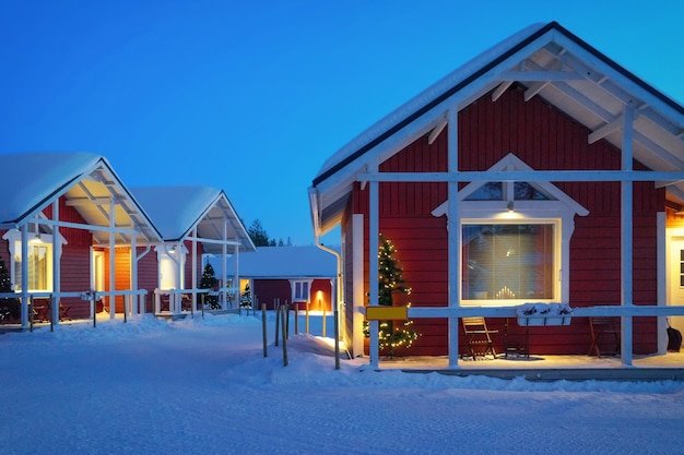
[[[131,196],[107,159],[84,153],[24,153],[0,155],[0,227],[19,228],[40,215],[60,196],[91,226],[115,225],[140,231],[141,243],[158,241],[160,232]],[[114,201],[115,208],[109,204]],[[108,232],[93,230],[101,242]],[[129,235],[117,235],[117,242],[129,242]]]

